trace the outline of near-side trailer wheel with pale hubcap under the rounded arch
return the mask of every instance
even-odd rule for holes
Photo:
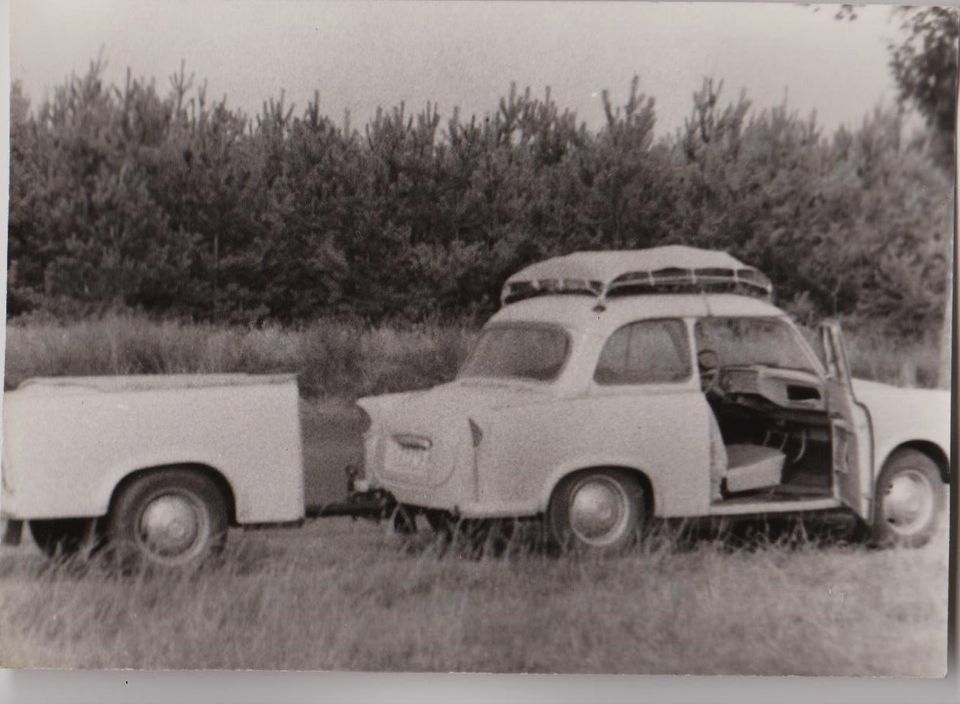
[[[227,527],[220,487],[194,470],[170,468],[123,487],[107,519],[107,537],[123,566],[192,567],[222,551]]]

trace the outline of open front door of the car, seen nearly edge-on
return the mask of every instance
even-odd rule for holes
[[[850,363],[837,321],[827,321],[820,326],[820,344],[827,368],[834,495],[869,521],[873,498],[870,414],[853,395]]]

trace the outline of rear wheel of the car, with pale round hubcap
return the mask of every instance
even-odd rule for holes
[[[563,552],[618,554],[638,542],[647,523],[639,479],[620,469],[565,477],[547,509],[547,539]]]

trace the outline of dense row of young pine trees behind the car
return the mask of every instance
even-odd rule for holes
[[[801,317],[940,320],[950,176],[893,109],[825,134],[705,81],[656,138],[634,80],[597,131],[514,88],[484,117],[401,105],[358,130],[316,97],[249,117],[182,68],[165,94],[102,69],[33,107],[14,86],[13,315],[464,318],[533,260],[680,242],[765,270]]]

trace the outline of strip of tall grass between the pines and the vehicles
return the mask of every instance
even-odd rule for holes
[[[897,339],[863,325],[845,334],[855,375],[936,386],[935,335]],[[294,372],[306,396],[355,398],[448,381],[475,335],[466,325],[435,323],[369,327],[319,320],[284,329],[133,315],[70,323],[14,320],[7,325],[5,385],[30,376]]]

